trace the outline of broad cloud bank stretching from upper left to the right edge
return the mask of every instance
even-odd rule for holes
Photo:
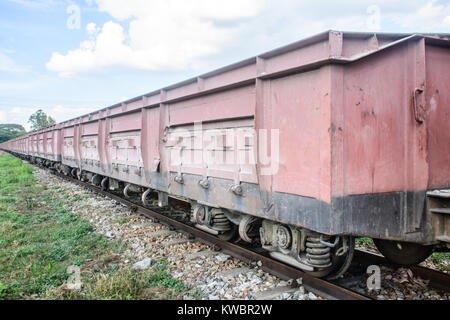
[[[111,21],[86,25],[86,40],[46,63],[60,76],[136,70],[186,70],[231,63],[247,52],[328,29],[448,32],[448,0],[90,0]],[[251,49],[250,49],[251,48]],[[228,51],[227,51],[228,50]],[[221,63],[221,61],[226,61]]]

